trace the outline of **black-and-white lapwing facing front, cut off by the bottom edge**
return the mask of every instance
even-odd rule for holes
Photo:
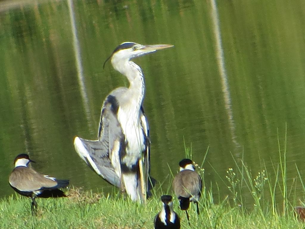
[[[154,221],[155,229],[180,229],[180,218],[173,211],[172,196],[161,196],[163,202],[162,210],[156,215]]]

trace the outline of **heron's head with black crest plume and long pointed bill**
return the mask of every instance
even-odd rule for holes
[[[174,45],[140,45],[134,42],[123,42],[116,49],[114,49],[113,53],[107,58],[107,60],[111,59],[111,63],[113,67],[116,69],[117,66],[122,65],[129,60],[143,56],[148,53],[156,52],[160,49],[166,49],[173,47]],[[104,63],[107,62],[107,60]]]

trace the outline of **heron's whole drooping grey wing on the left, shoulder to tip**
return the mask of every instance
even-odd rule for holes
[[[74,146],[81,158],[97,174],[109,183],[120,187],[119,151],[124,134],[117,120],[119,103],[117,97],[106,97],[101,111],[98,140],[84,140],[76,137]]]

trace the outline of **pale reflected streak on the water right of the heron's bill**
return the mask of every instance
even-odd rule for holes
[[[233,112],[232,112],[232,103],[231,103],[231,94],[230,94],[230,89],[229,89],[229,84],[228,84],[228,77],[227,77],[226,69],[224,66],[224,52],[223,52],[223,48],[222,48],[221,32],[220,32],[220,27],[219,27],[218,12],[217,12],[217,6],[216,6],[215,0],[211,0],[211,6],[212,6],[211,16],[212,16],[212,21],[213,21],[213,32],[214,32],[215,41],[216,41],[217,65],[218,65],[218,70],[219,70],[220,77],[221,77],[222,92],[224,94],[225,108],[226,108],[228,119],[229,119],[232,141],[236,147],[240,147],[240,144],[236,141],[235,123],[234,123]]]

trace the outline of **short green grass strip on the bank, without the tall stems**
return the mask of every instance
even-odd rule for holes
[[[123,195],[105,196],[92,192],[68,191],[68,198],[37,199],[38,213],[30,213],[30,199],[18,194],[0,201],[0,228],[153,228],[153,220],[161,208],[160,194],[141,205]],[[270,207],[256,206],[247,211],[243,206],[230,203],[228,198],[213,203],[210,192],[204,192],[200,201],[201,213],[196,206],[189,211],[191,225],[185,213],[178,209],[174,198],[174,210],[181,217],[181,228],[303,228],[287,208],[285,214],[274,214]]]

